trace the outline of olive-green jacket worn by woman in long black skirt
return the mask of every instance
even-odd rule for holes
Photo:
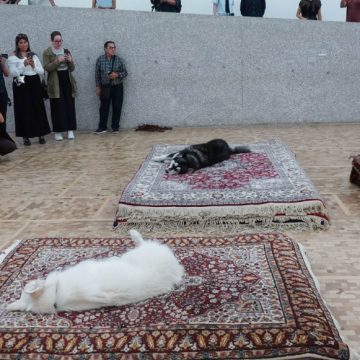
[[[60,89],[59,89],[59,77],[57,75],[58,64],[56,62],[56,55],[53,53],[51,47],[48,47],[43,52],[43,63],[44,63],[44,69],[48,73],[47,86],[48,86],[49,98],[59,99]],[[72,75],[72,72],[75,70],[74,62],[68,63],[68,68],[69,68],[69,77],[72,88],[72,96],[75,97],[77,95],[77,86],[76,86],[76,81]]]

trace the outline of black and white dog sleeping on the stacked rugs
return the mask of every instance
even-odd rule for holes
[[[185,174],[228,160],[232,154],[251,152],[246,146],[231,148],[223,139],[190,145],[169,155],[155,156],[154,161],[167,162],[166,173]]]

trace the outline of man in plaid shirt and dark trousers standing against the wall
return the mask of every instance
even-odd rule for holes
[[[110,103],[112,103],[112,132],[119,132],[124,97],[122,81],[127,76],[124,61],[115,55],[115,43],[107,41],[104,44],[104,51],[105,54],[98,57],[95,66],[96,94],[100,97],[100,121],[95,134],[107,132]]]

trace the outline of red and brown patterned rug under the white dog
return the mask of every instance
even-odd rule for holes
[[[18,244],[0,266],[0,358],[349,359],[301,248],[285,235],[159,241],[173,248],[186,271],[174,291],[133,305],[54,315],[6,312],[4,303],[17,299],[32,278],[119,255],[131,240]]]

